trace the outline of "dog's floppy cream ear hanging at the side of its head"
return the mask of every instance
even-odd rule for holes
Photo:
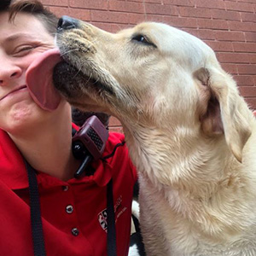
[[[239,96],[235,81],[220,67],[203,67],[194,76],[200,82],[205,105],[200,117],[202,131],[207,136],[224,133],[228,147],[241,162],[242,148],[252,131],[246,103]]]

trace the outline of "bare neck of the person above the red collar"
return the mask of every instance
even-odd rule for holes
[[[70,114],[56,118],[34,126],[30,131],[22,133],[22,136],[9,136],[35,170],[66,181],[73,177],[79,161],[72,154]]]

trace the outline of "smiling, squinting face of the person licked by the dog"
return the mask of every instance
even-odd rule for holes
[[[14,22],[9,22],[8,13],[0,13],[0,128],[3,130],[11,132],[23,123],[47,115],[29,95],[26,69],[53,47],[53,35],[33,15],[19,13]]]

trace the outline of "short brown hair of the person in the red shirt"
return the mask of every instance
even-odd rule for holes
[[[9,20],[15,20],[15,16],[20,12],[25,12],[36,16],[44,23],[45,28],[50,34],[56,32],[58,18],[44,8],[44,5],[38,0],[2,0],[3,4],[0,5],[0,11],[9,12]]]

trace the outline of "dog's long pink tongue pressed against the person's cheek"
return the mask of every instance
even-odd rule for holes
[[[61,61],[59,49],[46,50],[26,71],[26,85],[32,99],[44,110],[53,111],[61,102],[61,95],[53,85],[53,69]]]

